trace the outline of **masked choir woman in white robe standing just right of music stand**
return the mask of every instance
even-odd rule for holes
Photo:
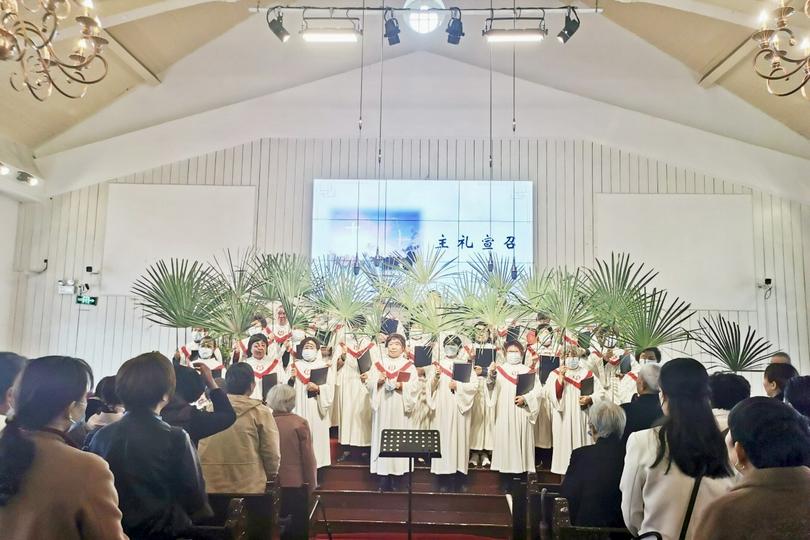
[[[430,472],[440,476],[440,490],[463,491],[466,488],[467,459],[470,455],[470,418],[478,393],[478,377],[471,370],[469,380],[453,378],[459,358],[461,339],[448,336],[441,359],[434,365],[427,386],[427,403],[433,412],[432,429],[441,433],[442,457],[431,460]]]

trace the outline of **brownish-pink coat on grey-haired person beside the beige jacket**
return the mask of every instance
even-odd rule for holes
[[[297,414],[275,412],[281,437],[281,487],[301,487],[305,483],[312,492],[317,486],[317,465],[312,449],[312,432],[306,419]]]

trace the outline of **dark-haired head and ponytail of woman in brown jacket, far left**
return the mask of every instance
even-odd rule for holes
[[[28,362],[14,395],[14,415],[0,434],[0,507],[19,492],[34,461],[35,446],[23,433],[83,418],[93,370],[84,360],[43,356]]]

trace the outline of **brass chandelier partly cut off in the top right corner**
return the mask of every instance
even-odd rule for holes
[[[760,17],[760,28],[751,36],[759,44],[754,56],[754,70],[765,79],[768,92],[775,96],[790,96],[801,92],[810,99],[810,39],[798,43],[788,20],[796,9],[780,0],[779,6],[770,14]],[[810,18],[810,0],[804,4],[804,14]],[[774,23],[774,27],[771,24]]]

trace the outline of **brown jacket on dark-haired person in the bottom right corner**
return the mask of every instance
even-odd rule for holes
[[[694,540],[810,539],[810,468],[755,469],[706,507]]]

